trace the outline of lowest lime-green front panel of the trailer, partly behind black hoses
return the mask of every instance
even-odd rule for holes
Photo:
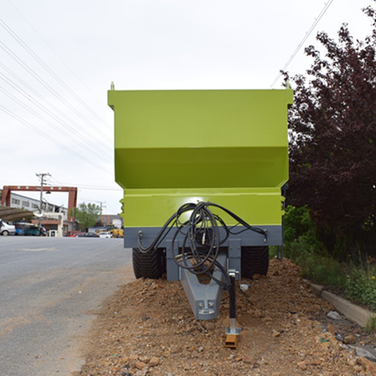
[[[214,202],[240,216],[250,225],[281,225],[282,203],[279,189],[185,191],[182,193],[155,190],[125,190],[124,226],[160,227],[186,203]],[[211,208],[228,225],[234,219],[225,212]],[[147,215],[148,214],[148,215]],[[184,217],[181,217],[184,220]],[[186,216],[185,219],[188,219]]]

